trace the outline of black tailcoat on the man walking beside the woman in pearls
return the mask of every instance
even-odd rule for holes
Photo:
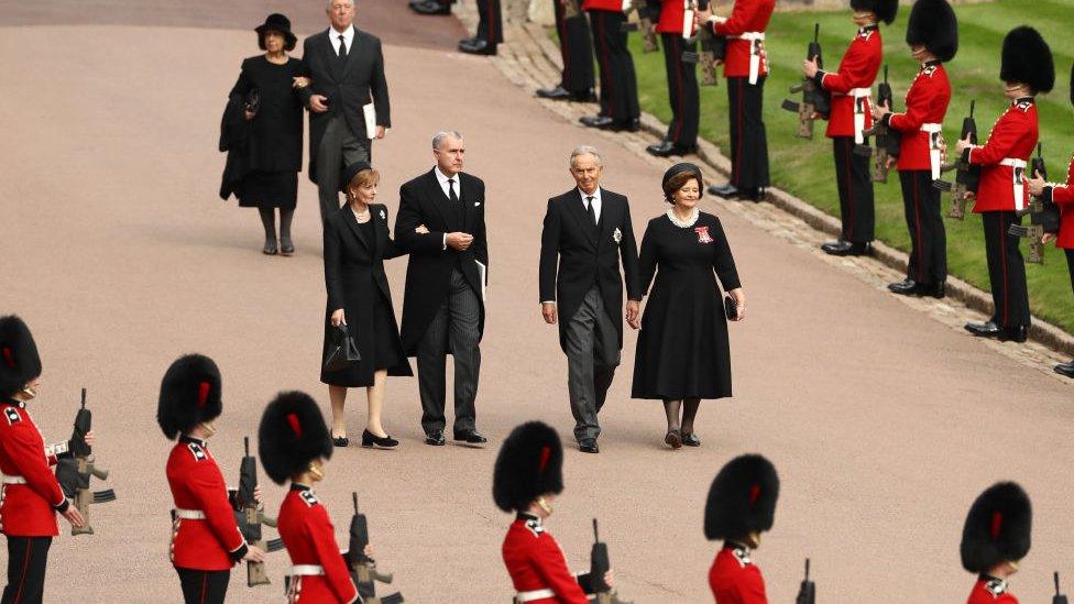
[[[626,197],[601,188],[599,232],[589,227],[591,223],[577,188],[548,200],[540,235],[539,301],[557,301],[559,343],[565,351],[567,325],[594,283],[600,287],[604,310],[618,331],[620,348],[623,347],[624,277],[629,299],[639,300],[644,293]]]

